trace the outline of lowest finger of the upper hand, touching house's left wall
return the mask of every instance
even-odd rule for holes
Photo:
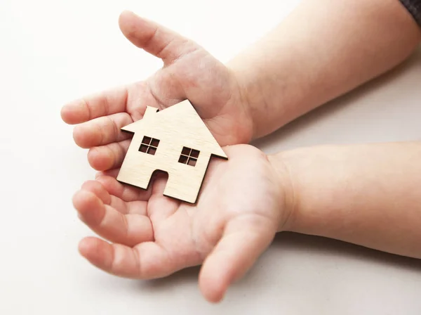
[[[131,140],[109,143],[106,146],[93,147],[88,152],[88,162],[97,171],[118,169],[121,167]],[[117,173],[118,174],[118,173]]]

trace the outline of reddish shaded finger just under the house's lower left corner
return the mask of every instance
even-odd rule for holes
[[[109,193],[127,203],[134,202],[135,200],[147,201],[152,194],[152,189],[145,191],[145,189],[123,185],[112,176],[101,175],[97,176],[96,180],[99,181]]]

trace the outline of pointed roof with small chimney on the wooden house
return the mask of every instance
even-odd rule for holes
[[[194,110],[192,103],[188,100],[161,111],[152,106],[147,106],[142,120],[121,128],[121,130],[131,133],[145,129],[152,130],[151,136],[153,136],[153,131],[164,131],[165,134],[171,134],[175,139],[182,137],[184,146],[196,148],[197,150],[206,150],[208,153],[220,158],[228,158],[199,114]]]

